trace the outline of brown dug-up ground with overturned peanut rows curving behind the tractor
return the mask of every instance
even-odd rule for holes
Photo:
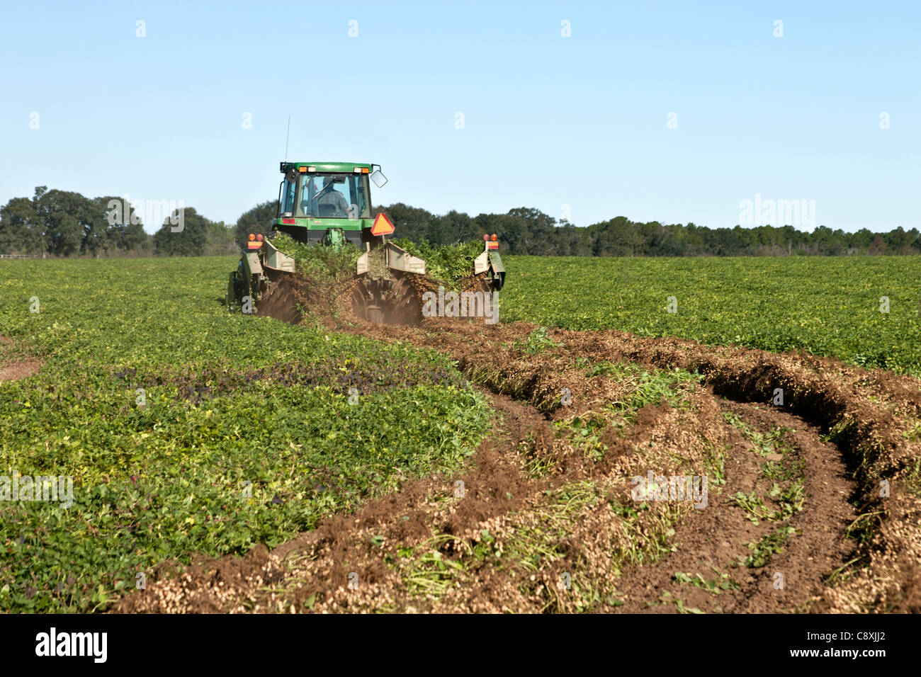
[[[279,317],[296,319],[278,305]],[[535,327],[525,323],[393,327],[348,309],[320,321],[456,359],[497,412],[471,467],[407,482],[271,553],[161,566],[116,611],[921,606],[918,379],[612,331],[551,330],[554,345],[531,355],[521,346]],[[589,457],[558,424],[592,420],[628,398],[628,379],[586,370],[605,361],[687,369],[704,383],[682,387],[678,405],[648,404],[624,426],[604,426],[603,453]],[[631,484],[649,472],[708,477],[706,507],[637,500]]]

